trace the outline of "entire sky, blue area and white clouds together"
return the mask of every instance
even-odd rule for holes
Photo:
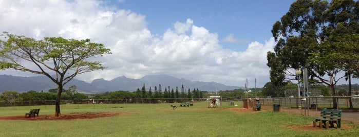
[[[75,77],[86,82],[165,74],[263,87],[270,81],[267,52],[276,44],[272,26],[293,2],[0,0],[0,31],[103,43],[112,54],[93,60],[107,69]]]

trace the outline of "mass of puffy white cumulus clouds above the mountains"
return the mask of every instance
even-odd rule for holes
[[[94,60],[108,68],[76,77],[87,82],[154,74],[235,86],[243,86],[246,78],[256,78],[260,85],[269,81],[266,56],[275,44],[273,38],[251,42],[247,50],[236,52],[223,49],[217,33],[196,26],[190,18],[178,20],[156,36],[147,29],[145,15],[101,5],[101,1],[0,1],[0,31],[37,39],[61,36],[104,43],[112,54]],[[230,34],[223,41],[240,40]],[[13,71],[0,74],[24,76]]]

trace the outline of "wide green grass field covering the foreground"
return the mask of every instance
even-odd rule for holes
[[[358,125],[347,122],[342,125],[350,128],[292,129],[291,126],[312,125],[313,119],[273,110],[231,109],[235,106],[208,108],[205,102],[172,110],[169,105],[64,104],[61,105],[62,115],[86,112],[127,114],[69,121],[0,120],[0,136],[358,136],[359,130]],[[40,115],[54,114],[54,106],[0,107],[0,117],[23,116],[32,108],[41,108]]]

